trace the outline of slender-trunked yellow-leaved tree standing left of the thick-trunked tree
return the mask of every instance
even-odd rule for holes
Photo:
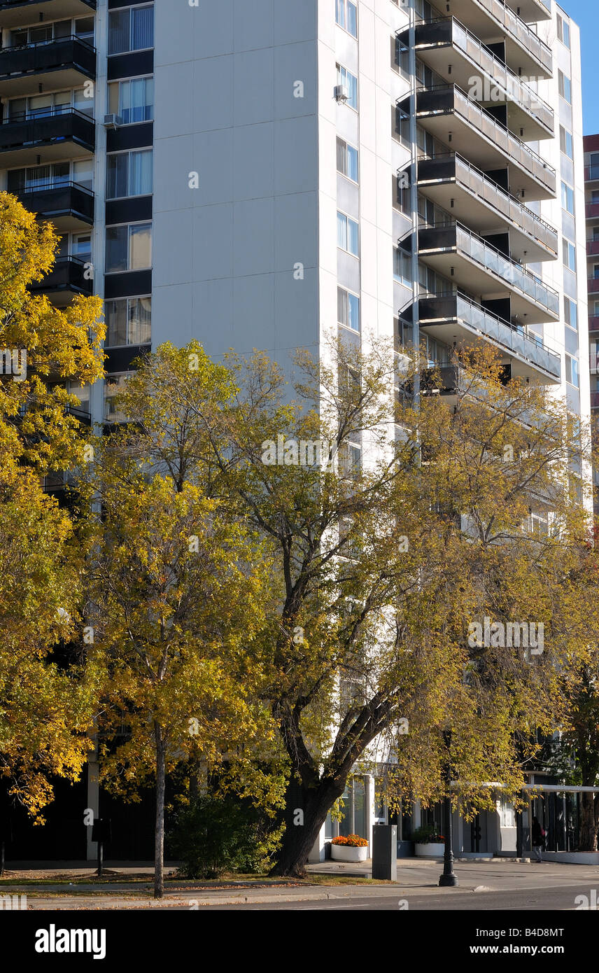
[[[199,350],[199,348],[197,348]],[[98,516],[88,537],[89,658],[104,667],[98,720],[102,779],[125,796],[156,788],[155,896],[163,894],[165,778],[178,765],[237,770],[240,793],[269,737],[258,691],[267,573],[260,539],[210,494],[204,434],[172,376],[193,376],[209,409],[227,371],[195,349],[164,346],[119,397],[121,428],[98,439],[86,491]],[[252,752],[252,747],[254,752]],[[266,791],[270,783],[265,783]]]

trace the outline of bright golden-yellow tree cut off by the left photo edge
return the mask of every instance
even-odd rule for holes
[[[42,478],[77,465],[87,437],[66,380],[102,374],[101,303],[65,309],[29,286],[52,269],[58,237],[0,193],[0,775],[33,815],[51,775],[76,779],[89,748],[94,679],[53,648],[76,634],[81,556]]]

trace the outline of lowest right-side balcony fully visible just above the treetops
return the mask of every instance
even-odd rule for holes
[[[418,318],[425,332],[449,347],[453,342],[491,342],[504,353],[514,378],[541,378],[549,383],[560,380],[559,355],[549,351],[540,338],[527,335],[523,328],[492,314],[465,294],[420,298]]]

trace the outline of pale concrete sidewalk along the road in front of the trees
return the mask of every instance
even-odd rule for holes
[[[17,863],[13,863],[17,864]],[[24,863],[26,864],[26,863]],[[54,863],[53,863],[54,864]],[[116,871],[115,878],[102,883],[81,882],[91,878],[87,863],[70,863],[58,868],[45,868],[45,883],[26,883],[35,880],[42,869],[15,869],[0,881],[0,895],[26,894],[27,908],[34,910],[72,910],[72,909],[197,909],[206,905],[236,905],[239,903],[282,903],[299,901],[325,901],[328,899],[350,899],[352,897],[389,897],[407,895],[436,895],[439,893],[439,876],[442,866],[438,861],[401,858],[398,860],[397,883],[373,883],[370,880],[370,862],[365,862],[358,872],[357,865],[337,862],[323,862],[308,867],[309,878],[305,882],[284,882],[281,880],[255,880],[252,882],[188,882],[172,880],[166,883],[164,898],[152,898],[152,868],[147,863],[108,863],[109,872]],[[170,866],[172,871],[173,866]],[[587,883],[596,887],[599,870],[596,866],[556,865],[543,863],[531,865],[516,862],[514,859],[492,859],[483,862],[456,861],[455,871],[460,885],[452,890],[453,895],[479,892],[499,892],[527,889],[542,891],[549,887],[562,887]],[[49,872],[53,873],[48,875]],[[362,876],[359,878],[357,876]],[[57,881],[58,876],[62,879]],[[137,882],[131,881],[138,876]],[[54,881],[52,879],[54,878]],[[129,881],[127,881],[127,878]],[[339,883],[340,879],[349,880]],[[357,881],[351,880],[357,878]],[[312,879],[312,881],[310,881]],[[72,881],[79,882],[69,885]],[[366,881],[365,881],[366,880]]]

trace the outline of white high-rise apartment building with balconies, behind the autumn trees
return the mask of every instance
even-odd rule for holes
[[[63,234],[53,300],[106,302],[93,419],[144,348],[285,366],[335,328],[426,342],[448,392],[483,339],[588,417],[580,38],[552,0],[0,0],[0,29],[0,189]],[[371,778],[346,810],[370,834]],[[505,848],[512,818],[458,841]]]

